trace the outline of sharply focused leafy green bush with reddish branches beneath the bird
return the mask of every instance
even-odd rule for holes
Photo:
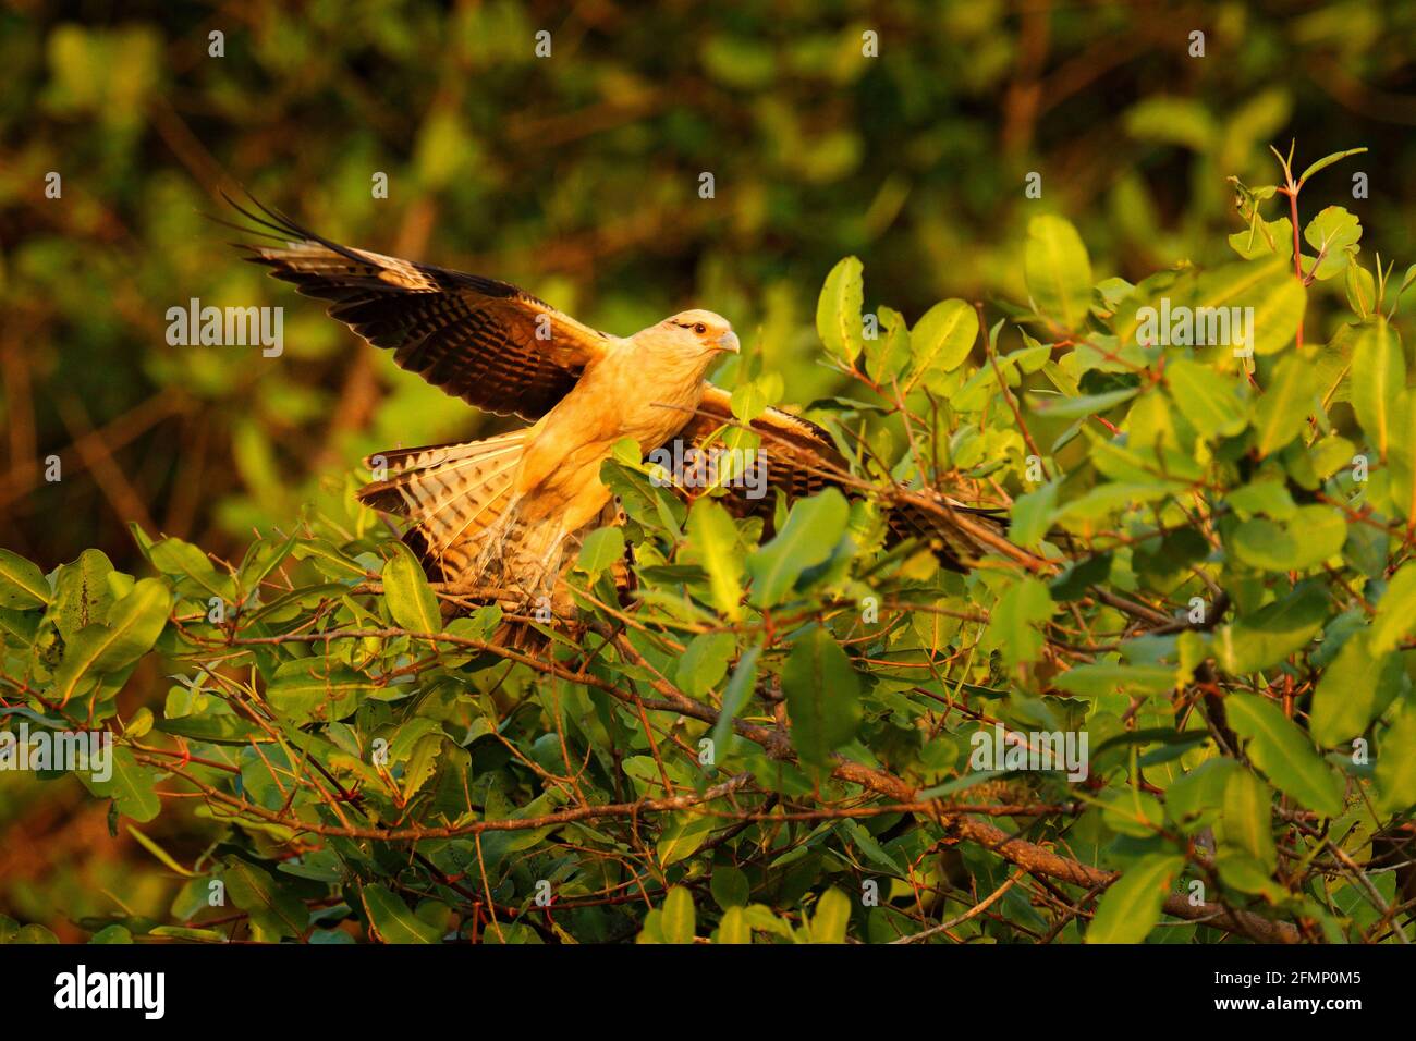
[[[1134,285],[1093,285],[1072,225],[1037,217],[1028,303],[987,330],[963,300],[913,326],[862,316],[860,262],[831,272],[817,327],[854,389],[816,406],[862,486],[1008,504],[1008,538],[970,574],[927,547],[878,552],[875,508],[834,490],[779,503],[763,541],[712,493],[663,487],[632,445],[605,466],[629,521],[585,541],[575,618],[524,619],[539,649],[491,642],[497,606],[445,625],[348,494],[229,565],[137,527],[154,576],[96,551],[45,576],[6,552],[7,712],[115,731],[112,779],[88,782],[115,831],[197,793],[210,836],[190,864],[143,837],[185,880],[166,918],[85,926],[1393,939],[1412,904],[1409,854],[1391,853],[1416,806],[1416,392],[1398,331],[1416,268],[1365,265],[1338,207],[1303,224],[1294,263],[1270,210],[1297,212],[1327,164],[1236,186],[1242,259]],[[1308,293],[1338,280],[1347,322],[1300,346]],[[1252,307],[1252,337],[1148,331],[1148,307],[1187,306]],[[782,392],[741,381],[738,418]],[[881,412],[902,443],[857,436]],[[174,683],[118,718],[143,656]],[[1085,732],[1083,776],[978,769],[997,724]]]

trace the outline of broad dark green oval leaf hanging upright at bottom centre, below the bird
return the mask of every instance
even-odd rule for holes
[[[861,681],[824,626],[799,636],[782,667],[792,745],[803,763],[826,766],[861,724]]]

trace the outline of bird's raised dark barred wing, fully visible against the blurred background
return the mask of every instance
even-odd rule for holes
[[[539,419],[612,343],[507,282],[351,249],[256,205],[263,215],[236,210],[280,245],[245,245],[248,261],[469,405]]]

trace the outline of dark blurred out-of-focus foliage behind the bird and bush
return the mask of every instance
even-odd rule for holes
[[[843,255],[864,261],[868,310],[910,322],[950,296],[1025,300],[1038,212],[1078,225],[1097,279],[1229,259],[1225,176],[1272,183],[1267,146],[1290,137],[1298,169],[1371,147],[1323,200],[1361,218],[1368,255],[1409,259],[1413,58],[1416,6],[1362,0],[17,0],[0,13],[0,545],[136,569],[137,521],[229,554],[343,497],[368,452],[501,422],[241,263],[204,217],[222,187],[615,333],[712,307],[742,364],[806,404],[837,380],[813,313]],[[1347,198],[1352,170],[1369,198]],[[1320,336],[1340,283],[1311,290]],[[166,312],[191,297],[283,306],[285,353],[169,346]],[[0,786],[0,909],[81,935],[55,908],[112,911],[118,872],[125,901],[160,901],[157,874],[108,860],[160,871],[129,836],[92,841],[101,804],[33,786]]]

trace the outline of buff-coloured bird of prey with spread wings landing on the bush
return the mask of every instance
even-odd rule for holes
[[[542,602],[576,540],[613,523],[600,465],[616,442],[633,438],[646,455],[675,438],[697,449],[735,422],[728,391],[704,377],[739,341],[709,310],[612,336],[506,282],[338,245],[256,205],[263,215],[236,208],[279,245],[248,244],[246,259],[329,300],[331,317],[394,351],[402,368],[530,423],[371,456],[387,476],[360,500],[409,523],[404,541],[447,592],[496,591],[490,599],[513,608]],[[816,423],[769,408],[752,429],[762,436],[767,486],[789,501],[833,484],[848,494],[864,486]],[[946,567],[961,569],[1003,541],[987,510],[932,489],[886,494],[889,541],[920,538]],[[735,516],[770,523],[775,496],[728,489],[722,501]]]

